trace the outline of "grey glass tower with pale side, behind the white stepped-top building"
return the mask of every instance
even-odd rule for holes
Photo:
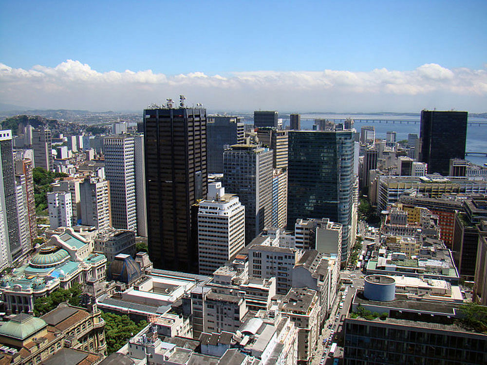
[[[272,150],[233,145],[223,153],[225,189],[245,206],[245,244],[272,221]]]

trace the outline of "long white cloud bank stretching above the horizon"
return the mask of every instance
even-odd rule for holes
[[[98,72],[66,60],[16,69],[0,63],[0,99],[39,109],[142,110],[167,97],[210,110],[486,111],[487,70],[430,63],[412,71],[255,71],[166,75],[151,70]]]

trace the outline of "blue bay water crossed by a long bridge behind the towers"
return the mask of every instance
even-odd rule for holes
[[[326,119],[345,119],[352,118],[357,119],[369,119],[369,120],[402,120],[402,121],[418,121],[419,116],[410,115],[346,115],[346,114],[301,114],[301,128],[302,129],[313,129],[315,118],[326,118]],[[468,118],[469,122],[483,122],[487,123],[487,119],[484,118]],[[289,121],[287,121],[289,124]],[[376,138],[386,138],[386,132],[395,131],[396,140],[406,140],[408,139],[409,133],[416,133],[419,137],[419,123],[417,124],[398,124],[397,122],[392,123],[360,123],[355,122],[354,128],[360,132],[362,126],[374,126],[375,137]],[[487,153],[487,125],[483,126],[468,126],[467,127],[467,152],[486,152]],[[466,159],[473,164],[487,164],[486,156],[466,156]]]

